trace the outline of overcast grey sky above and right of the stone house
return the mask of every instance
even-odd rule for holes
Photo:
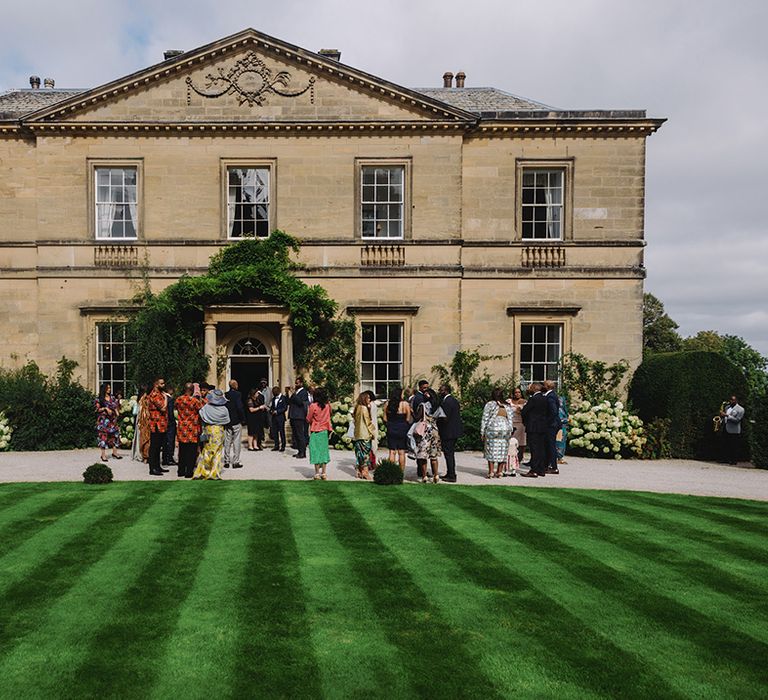
[[[646,289],[768,354],[768,2],[0,0],[0,89],[94,87],[253,27],[407,87],[446,70],[563,108],[644,108]]]

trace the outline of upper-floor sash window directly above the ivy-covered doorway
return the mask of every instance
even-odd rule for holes
[[[270,169],[227,168],[227,238],[267,238]]]

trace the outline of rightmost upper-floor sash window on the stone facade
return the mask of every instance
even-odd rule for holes
[[[565,172],[562,168],[523,168],[523,239],[561,240]]]

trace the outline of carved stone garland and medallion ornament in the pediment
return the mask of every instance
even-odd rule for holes
[[[218,74],[208,73],[205,79],[205,87],[198,88],[192,78],[187,77],[188,105],[191,104],[192,90],[207,98],[234,94],[241,105],[247,102],[249,107],[264,104],[270,92],[283,97],[298,97],[309,91],[310,103],[315,103],[315,76],[309,78],[306,87],[291,90],[291,74],[283,70],[273,76],[272,70],[253,51],[249,51],[229,71],[219,68]]]

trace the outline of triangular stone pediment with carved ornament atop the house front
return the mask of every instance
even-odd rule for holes
[[[30,115],[35,123],[467,122],[474,116],[253,29]]]

